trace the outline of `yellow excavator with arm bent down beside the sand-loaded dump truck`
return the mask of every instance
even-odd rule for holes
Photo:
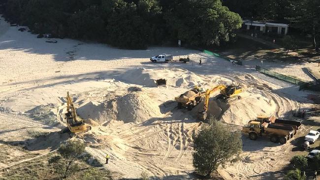
[[[207,89],[205,93],[205,99],[203,104],[203,111],[200,111],[199,114],[201,115],[202,120],[207,119],[207,111],[208,111],[208,105],[209,105],[209,98],[210,94],[220,91],[220,94],[217,95],[217,99],[223,99],[226,103],[234,102],[241,98],[239,93],[243,91],[242,85],[218,85],[216,87],[213,87],[211,89]]]

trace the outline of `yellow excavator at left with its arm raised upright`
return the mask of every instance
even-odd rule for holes
[[[91,126],[85,124],[84,120],[77,119],[77,113],[75,111],[75,107],[73,105],[69,92],[66,93],[66,104],[67,113],[64,114],[64,119],[66,120],[67,128],[61,130],[61,133],[68,132],[77,134],[91,130]]]

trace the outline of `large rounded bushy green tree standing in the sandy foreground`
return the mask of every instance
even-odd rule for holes
[[[241,133],[231,132],[220,121],[211,118],[209,125],[194,138],[193,166],[200,175],[210,176],[242,150]]]

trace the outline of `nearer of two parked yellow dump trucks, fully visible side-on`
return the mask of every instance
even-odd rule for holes
[[[248,126],[242,128],[242,132],[248,134],[251,140],[256,140],[259,136],[267,136],[270,137],[270,141],[273,143],[286,144],[293,137],[294,129],[291,126],[249,121]]]

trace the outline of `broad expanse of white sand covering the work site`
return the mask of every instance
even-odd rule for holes
[[[110,164],[105,168],[120,173],[119,178],[139,178],[144,171],[150,176],[168,179],[171,175],[178,179],[189,176],[188,172],[193,171],[192,134],[202,124],[195,115],[202,107],[200,104],[191,112],[178,110],[173,100],[194,85],[210,88],[232,81],[246,85],[243,98],[230,107],[213,100],[209,105],[209,115],[239,126],[261,113],[288,116],[297,101],[305,107],[311,106],[305,98],[311,92],[298,91],[297,86],[259,74],[251,70],[250,65],[232,66],[230,62],[198,51],[172,47],[119,50],[70,39],[57,39],[58,43],[50,44],[46,39],[37,39],[36,35],[17,29],[1,20],[1,112],[5,116],[27,117],[30,110],[52,103],[56,105],[51,111],[56,114],[57,123],[64,124],[64,97],[66,91],[70,91],[78,115],[100,124],[95,124],[92,131],[79,139],[90,145],[87,150],[101,162],[105,153],[109,153]],[[171,53],[176,59],[189,55],[192,61],[186,64],[150,62],[150,57],[161,53]],[[202,66],[197,64],[200,58]],[[157,87],[154,80],[160,78],[167,80],[166,87]],[[2,124],[5,118],[1,117]],[[18,121],[12,120],[13,126]],[[31,125],[34,123],[27,119],[22,125],[28,126],[28,121]],[[21,129],[16,135],[4,133],[0,140],[7,140],[4,138],[7,135],[11,136],[10,141],[21,140],[23,133]],[[243,154],[254,151],[257,158],[221,170],[226,179],[240,175],[244,179],[259,179],[260,174],[279,170],[288,163],[280,154],[292,145],[269,147],[267,142],[262,147],[263,143],[243,139],[246,151]],[[257,143],[259,149],[256,150]],[[276,161],[258,158],[274,154],[273,151],[278,153],[273,155]],[[245,159],[243,154],[241,158]],[[240,171],[248,163],[259,167],[248,169],[251,177]]]

